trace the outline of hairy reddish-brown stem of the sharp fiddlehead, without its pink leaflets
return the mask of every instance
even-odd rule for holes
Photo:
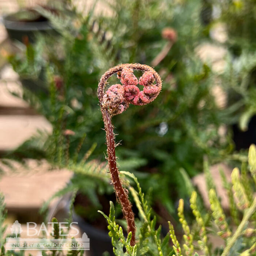
[[[157,87],[158,90],[157,90],[157,93],[155,93],[155,95],[153,95],[152,93],[151,93],[151,95],[150,94],[148,94],[148,96],[146,95],[146,97],[149,98],[149,102],[150,102],[150,97],[152,97],[152,100],[153,100],[159,94],[161,87],[162,87],[162,81],[161,81],[161,78],[158,75],[158,73],[153,68],[151,68],[147,65],[135,63],[135,64],[120,64],[113,68],[110,68],[108,71],[105,72],[105,74],[102,75],[101,80],[99,81],[99,84],[98,84],[98,98],[99,98],[99,103],[100,103],[100,107],[101,107],[101,112],[102,112],[103,122],[104,122],[104,126],[105,126],[105,132],[106,132],[106,144],[108,147],[107,153],[108,153],[108,164],[109,164],[110,176],[111,176],[112,184],[115,189],[117,198],[120,201],[121,206],[122,206],[123,214],[124,214],[124,217],[127,222],[128,233],[132,232],[132,238],[131,238],[130,244],[133,246],[133,245],[135,245],[135,231],[136,231],[135,221],[134,221],[134,213],[132,211],[132,205],[131,205],[131,202],[129,201],[127,192],[123,188],[123,184],[119,177],[119,170],[117,168],[116,152],[115,152],[115,138],[114,138],[114,132],[113,132],[113,125],[111,122],[111,117],[112,117],[113,112],[109,111],[108,106],[104,102],[105,87],[108,82],[108,79],[110,78],[110,76],[116,74],[117,72],[121,73],[123,71],[123,69],[124,69],[124,71],[127,69],[132,69],[132,70],[135,69],[135,70],[140,70],[143,72],[148,71],[148,72],[150,72],[150,74],[153,75],[156,84],[155,85],[150,84],[149,86],[155,86],[155,87]],[[145,86],[145,88],[147,88],[147,87]],[[138,102],[139,102],[139,99],[136,103],[138,103]],[[147,102],[147,103],[149,103],[149,102]],[[129,102],[129,103],[131,103],[131,102]],[[146,104],[146,102],[145,102],[145,104]],[[139,105],[139,104],[135,104],[135,105]],[[144,105],[144,103],[140,104],[140,105]],[[121,113],[121,112],[119,112],[119,113]]]

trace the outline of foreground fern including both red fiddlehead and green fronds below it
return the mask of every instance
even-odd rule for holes
[[[134,75],[133,69],[144,72],[139,81]],[[117,77],[121,80],[122,85],[114,84],[105,90],[108,79],[114,74],[117,74]],[[137,87],[138,83],[143,86],[143,91],[139,91],[139,88]],[[206,164],[205,175],[211,213],[209,212],[207,215],[203,216],[199,204],[197,203],[197,193],[193,191],[191,193],[190,206],[192,213],[196,218],[196,231],[192,231],[188,226],[188,222],[186,221],[184,215],[184,200],[180,200],[178,207],[178,217],[180,218],[182,229],[185,233],[183,237],[184,244],[182,249],[180,242],[178,242],[175,236],[173,225],[170,222],[170,231],[166,237],[161,240],[161,227],[155,230],[156,218],[151,218],[151,209],[148,207],[147,202],[144,199],[144,195],[137,178],[132,173],[121,172],[122,174],[132,178],[138,186],[139,193],[137,194],[136,191],[131,188],[128,182],[128,188],[131,191],[132,196],[135,197],[134,201],[137,208],[139,209],[140,217],[144,221],[139,234],[136,234],[135,218],[131,203],[128,199],[127,192],[123,188],[125,181],[123,183],[121,182],[119,170],[117,168],[115,155],[116,144],[114,140],[111,118],[114,115],[123,113],[129,107],[129,104],[146,105],[152,102],[158,96],[159,92],[161,91],[161,87],[162,81],[157,72],[155,72],[154,69],[148,67],[147,65],[141,64],[121,64],[110,68],[102,76],[98,85],[98,98],[105,125],[106,144],[108,147],[107,152],[109,171],[117,199],[122,206],[123,214],[127,222],[128,237],[125,238],[122,227],[119,227],[114,221],[113,203],[110,203],[109,217],[101,212],[109,223],[109,236],[112,237],[112,244],[114,246],[113,251],[115,255],[144,255],[150,251],[150,248],[154,247],[154,249],[158,252],[153,253],[152,255],[172,255],[173,252],[169,246],[169,238],[172,240],[173,250],[177,256],[181,256],[183,253],[184,255],[198,255],[196,252],[194,254],[194,248],[196,248],[196,246],[201,250],[203,255],[212,255],[211,246],[208,242],[209,238],[207,237],[207,233],[210,229],[215,231],[212,233],[220,236],[225,241],[224,247],[217,249],[217,251],[215,250],[214,255],[251,255],[255,253],[256,241],[252,235],[255,232],[253,229],[253,226],[255,225],[253,216],[256,211],[256,197],[253,196],[254,190],[252,187],[253,184],[256,184],[255,145],[252,145],[249,149],[249,173],[248,166],[245,162],[242,163],[241,178],[240,171],[238,168],[235,168],[231,174],[232,186],[227,182],[226,176],[222,174],[223,185],[229,193],[230,210],[232,212],[231,215],[233,217],[233,222],[234,224],[239,223],[239,211],[241,211],[243,214],[241,223],[238,225],[238,227],[236,227],[235,231],[231,231],[232,223],[229,222],[228,224],[226,220],[227,218],[218,199],[214,182],[212,181],[210,171]],[[249,174],[251,176],[248,176]],[[250,219],[252,220],[251,224],[249,224]],[[138,244],[136,244],[135,241],[136,236],[139,238],[137,240]],[[244,239],[242,239],[243,236]],[[252,238],[248,239],[248,237],[251,236]],[[197,244],[195,244],[195,242],[197,242]]]

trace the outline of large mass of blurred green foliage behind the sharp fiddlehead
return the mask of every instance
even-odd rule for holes
[[[189,177],[203,170],[203,156],[212,164],[233,153],[231,125],[244,120],[241,115],[246,113],[250,120],[256,110],[255,93],[246,90],[247,75],[255,67],[249,48],[238,57],[230,50],[229,65],[221,75],[196,52],[200,44],[214,41],[210,29],[215,22],[227,22],[236,8],[241,8],[222,2],[113,0],[105,2],[108,15],[95,14],[94,7],[84,13],[72,1],[60,5],[57,15],[37,7],[50,19],[54,33],[38,34],[33,44],[25,40],[20,46],[23,50],[9,60],[25,86],[23,98],[49,120],[53,134],[31,138],[8,157],[46,158],[69,168],[84,158],[105,161],[99,78],[119,63],[152,65],[169,44],[162,31],[171,27],[177,40],[155,65],[163,80],[161,94],[150,105],[131,106],[113,117],[113,124],[116,140],[121,142],[116,148],[120,170],[135,173],[143,191],[151,191],[153,202],[173,214],[176,199],[190,196],[191,189],[185,188],[190,186]],[[215,9],[220,12],[217,18]],[[236,14],[234,19],[239,22]],[[231,41],[224,42],[225,47],[231,45],[233,35],[250,43],[251,35],[244,38],[242,31],[234,33],[240,25],[228,23]],[[241,39],[241,45],[243,42]],[[245,54],[251,60],[250,69]],[[221,79],[224,92],[238,92],[239,101],[232,100],[236,94],[226,108],[220,108],[213,93],[217,79]],[[248,122],[241,126],[246,129]],[[220,132],[223,125],[228,128],[224,135]]]

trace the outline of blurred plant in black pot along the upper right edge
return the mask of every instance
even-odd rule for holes
[[[246,1],[213,1],[220,16],[226,39],[226,68],[218,78],[227,93],[228,105],[233,113],[231,124],[236,150],[248,149],[256,143],[255,129],[255,4]],[[219,44],[219,42],[218,42]]]

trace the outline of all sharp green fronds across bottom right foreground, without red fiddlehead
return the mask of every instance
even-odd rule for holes
[[[195,225],[189,226],[184,214],[184,200],[180,199],[178,206],[178,216],[184,235],[182,239],[177,239],[173,225],[169,222],[169,233],[162,238],[161,226],[156,229],[156,217],[152,216],[152,209],[145,199],[140,188],[138,179],[129,172],[120,172],[125,179],[133,181],[135,188],[127,185],[131,195],[139,210],[139,219],[136,225],[139,227],[136,233],[136,244],[131,245],[131,232],[125,237],[123,229],[115,219],[113,203],[110,202],[110,214],[106,216],[108,221],[109,236],[112,238],[113,252],[117,256],[142,256],[142,255],[176,255],[176,256],[197,256],[197,255],[219,255],[219,256],[249,256],[256,253],[255,239],[255,212],[256,197],[255,190],[256,172],[256,147],[252,145],[249,149],[248,163],[246,165],[246,175],[240,174],[238,168],[234,168],[231,174],[231,184],[224,180],[225,187],[230,186],[233,193],[229,193],[230,204],[236,202],[236,211],[241,215],[241,221],[227,217],[219,201],[214,188],[208,190],[210,200],[210,211],[205,215],[200,210],[197,193],[193,191],[190,198],[190,207],[195,217]],[[244,180],[245,179],[245,180]],[[253,180],[253,182],[252,182]],[[247,185],[244,183],[246,182]],[[252,187],[253,185],[253,187]],[[230,206],[231,210],[232,206]],[[237,226],[234,226],[237,223]],[[209,235],[219,236],[224,241],[224,246],[215,248],[213,251]],[[172,246],[169,243],[172,241]]]

